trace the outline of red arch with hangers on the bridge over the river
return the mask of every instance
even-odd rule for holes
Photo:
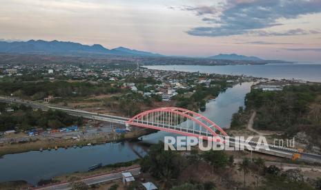
[[[126,121],[129,125],[167,131],[204,140],[227,136],[226,132],[208,118],[188,109],[162,107],[137,114]]]

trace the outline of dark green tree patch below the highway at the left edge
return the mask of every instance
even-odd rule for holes
[[[10,105],[14,112],[6,112],[9,105],[0,103],[0,131],[17,129],[26,131],[34,127],[58,129],[70,125],[81,125],[82,119],[64,112],[33,110],[25,105]]]

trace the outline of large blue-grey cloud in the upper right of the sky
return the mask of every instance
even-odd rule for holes
[[[304,14],[321,12],[320,0],[227,0],[222,8],[214,6],[188,7],[203,21],[213,27],[196,27],[188,30],[195,36],[231,36],[255,34],[259,36],[289,36],[320,33],[315,30],[295,29],[285,32],[269,32],[266,28],[279,23],[280,19],[296,19]],[[206,17],[205,17],[206,16]]]

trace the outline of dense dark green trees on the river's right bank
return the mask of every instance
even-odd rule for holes
[[[315,145],[321,145],[321,85],[290,85],[280,92],[265,92],[252,89],[246,94],[246,110],[240,109],[233,116],[231,127],[244,124],[251,110],[257,115],[254,126],[257,129],[285,131],[293,136],[304,131],[311,136]],[[318,142],[317,142],[318,141]]]

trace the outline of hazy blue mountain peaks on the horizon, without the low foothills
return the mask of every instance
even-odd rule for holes
[[[149,57],[164,57],[162,54],[155,54],[152,52],[144,52],[139,50],[131,50],[126,47],[117,47],[114,49],[107,49],[100,44],[83,45],[70,41],[0,41],[0,52],[11,54],[59,54],[59,55],[114,55],[114,56],[149,56]],[[262,59],[255,56],[243,56],[237,54],[219,54],[216,56],[209,56],[206,59],[220,59],[231,61],[262,61]]]

